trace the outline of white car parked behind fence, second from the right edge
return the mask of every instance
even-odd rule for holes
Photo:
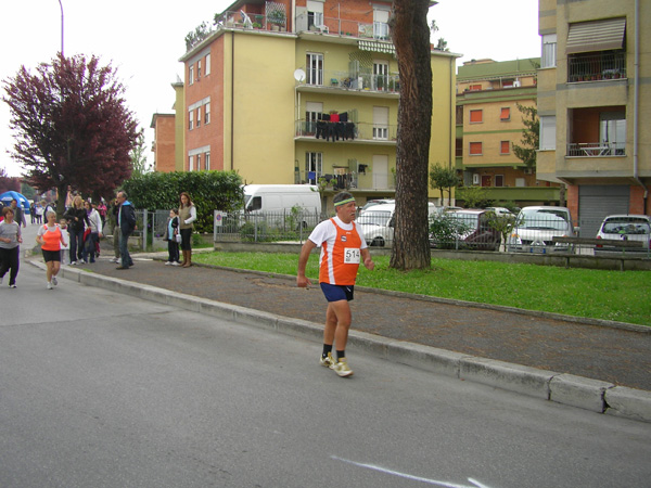
[[[524,207],[508,242],[512,253],[572,253],[574,245],[554,243],[553,237],[575,237],[576,229],[566,207]]]

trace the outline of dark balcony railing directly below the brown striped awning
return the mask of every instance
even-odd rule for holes
[[[604,51],[567,57],[567,82],[626,78],[626,52]]]

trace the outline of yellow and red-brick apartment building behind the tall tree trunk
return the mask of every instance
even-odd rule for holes
[[[391,1],[230,5],[180,60],[184,169],[235,170],[246,183],[321,183],[360,203],[393,196],[400,82],[390,16]],[[448,165],[455,60],[432,51],[430,160]]]

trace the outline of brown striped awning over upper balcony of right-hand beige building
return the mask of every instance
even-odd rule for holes
[[[604,21],[570,24],[567,34],[567,54],[578,52],[607,51],[624,47],[626,18],[607,18]]]

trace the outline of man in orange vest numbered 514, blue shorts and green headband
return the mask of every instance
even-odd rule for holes
[[[305,275],[305,267],[315,247],[321,247],[319,258],[319,284],[326,299],[326,328],[323,329],[323,352],[320,363],[340,376],[350,376],[353,370],[346,360],[346,343],[353,320],[350,305],[359,264],[372,270],[375,265],[355,222],[357,206],[350,193],[337,193],[334,198],[336,216],[319,223],[309,235],[298,257],[296,284],[307,287],[311,284]],[[336,344],[336,361],[332,347]]]

